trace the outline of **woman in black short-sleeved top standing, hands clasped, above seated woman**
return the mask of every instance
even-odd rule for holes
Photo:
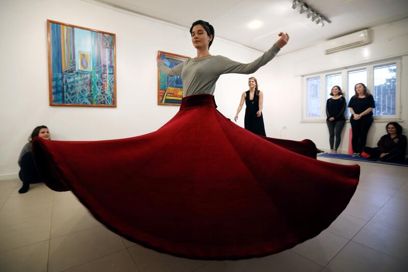
[[[368,130],[373,122],[374,98],[368,92],[366,85],[357,83],[354,86],[355,95],[351,97],[350,108],[351,130],[353,146],[352,157],[361,157],[363,147],[366,146]]]

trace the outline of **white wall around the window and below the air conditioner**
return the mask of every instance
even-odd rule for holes
[[[329,150],[328,130],[325,121],[301,122],[302,75],[323,72],[360,63],[398,57],[402,61],[401,71],[401,125],[408,127],[408,19],[399,20],[372,29],[373,42],[366,46],[324,55],[322,43],[303,50],[279,56],[273,65],[265,69],[271,75],[265,98],[266,130],[271,137],[294,140],[312,139],[323,150]],[[263,74],[264,75],[264,74]],[[263,82],[263,81],[261,81]],[[343,89],[344,86],[343,86]],[[272,106],[273,105],[273,106]],[[367,145],[375,146],[386,134],[388,121],[375,120],[370,128]],[[283,127],[286,127],[283,129]],[[347,152],[350,123],[343,130],[339,147]]]

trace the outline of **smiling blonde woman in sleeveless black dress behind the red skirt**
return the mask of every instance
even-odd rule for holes
[[[241,102],[239,103],[237,114],[234,120],[238,120],[238,114],[242,109],[245,102],[245,119],[244,127],[252,133],[266,136],[264,117],[262,116],[262,107],[264,102],[264,94],[258,89],[258,81],[254,77],[250,77],[248,80],[249,90],[243,92],[241,95]]]

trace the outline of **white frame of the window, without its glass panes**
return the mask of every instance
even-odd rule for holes
[[[395,63],[396,65],[396,81],[395,81],[395,115],[385,115],[385,116],[373,116],[374,121],[401,121],[401,75],[402,66],[401,58],[386,59],[368,63],[361,63],[353,66],[346,66],[338,69],[326,70],[318,73],[302,75],[302,109],[301,109],[301,122],[325,122],[326,121],[326,77],[330,75],[340,74],[342,75],[342,91],[346,94],[347,105],[351,97],[348,97],[348,72],[367,69],[367,88],[370,93],[374,96],[374,67],[386,66]],[[320,117],[308,117],[307,106],[308,106],[308,79],[310,78],[320,78]],[[350,110],[346,109],[346,119],[350,118]]]

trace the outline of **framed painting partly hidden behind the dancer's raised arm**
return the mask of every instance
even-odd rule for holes
[[[174,67],[177,64],[189,59],[189,57],[159,51],[161,59],[164,60],[164,65]],[[181,76],[169,77],[166,76],[160,68],[157,72],[157,105],[176,105],[182,104],[183,98],[183,81]]]

